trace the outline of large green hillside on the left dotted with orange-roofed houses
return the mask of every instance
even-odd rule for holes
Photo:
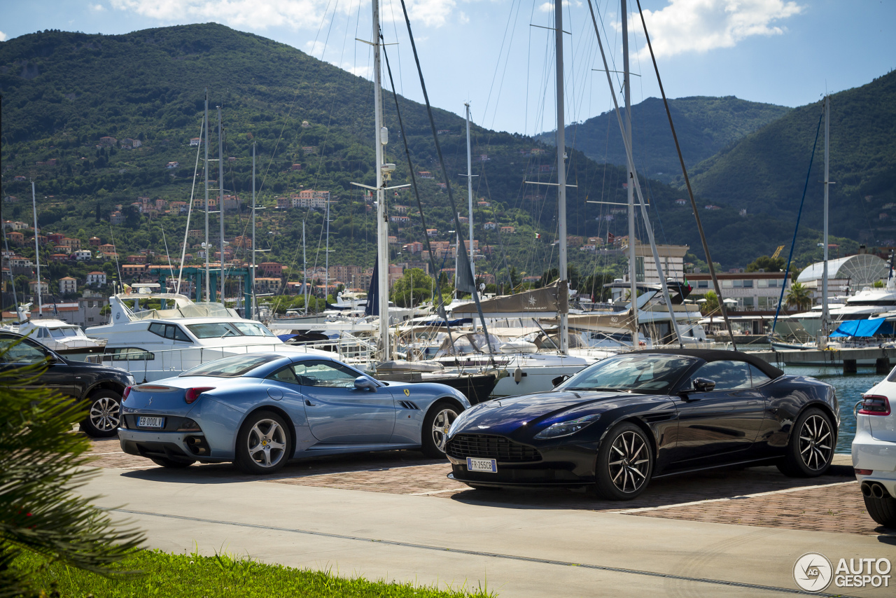
[[[394,65],[393,65],[394,66]],[[426,70],[426,65],[424,65]],[[388,80],[387,80],[388,81]],[[297,280],[302,265],[302,224],[306,223],[309,267],[324,264],[324,216],[320,210],[274,210],[279,195],[303,189],[330,191],[330,264],[370,266],[375,259],[373,206],[350,182],[374,184],[373,84],[323,63],[296,48],[217,24],[187,25],[103,36],[47,30],[0,42],[0,93],[2,106],[3,218],[30,221],[30,182],[38,190],[39,223],[43,232],[58,232],[86,243],[98,236],[114,241],[119,256],[140,250],[154,251],[162,263],[168,253],[177,263],[186,218],[177,212],[148,216],[130,209],[138,197],[185,202],[193,189],[197,151],[190,139],[200,134],[203,87],[208,86],[212,117],[210,158],[217,159],[217,112],[222,105],[224,123],[224,182],[227,193],[244,200],[244,210],[226,217],[226,238],[248,233],[245,206],[251,196],[252,143],[257,143],[260,203],[268,210],[260,216],[260,247],[270,249],[265,259],[288,265]],[[384,93],[384,122],[392,134],[387,160],[397,164],[392,184],[409,183],[401,135],[392,95]],[[427,225],[435,240],[452,240],[451,208],[438,171],[423,106],[399,99],[411,156],[418,178]],[[437,100],[436,100],[437,103]],[[449,176],[466,169],[466,147],[461,117],[435,109]],[[116,142],[100,143],[111,136]],[[126,138],[139,147],[128,149]],[[550,186],[556,178],[556,151],[519,134],[497,133],[473,127],[474,213],[476,238],[485,257],[478,273],[509,279],[513,267],[519,275],[540,275],[556,266],[556,195]],[[167,168],[169,162],[177,168]],[[210,195],[218,194],[219,162],[211,162]],[[16,180],[24,178],[25,180]],[[613,214],[607,204],[625,201],[625,172],[611,164],[590,160],[584,153],[569,154],[569,234],[617,237],[627,234],[625,217]],[[200,160],[197,182],[202,181]],[[687,244],[697,256],[700,241],[689,209],[675,204],[685,195],[672,186],[645,181],[651,213],[660,242]],[[462,178],[453,179],[455,198],[467,203]],[[195,201],[194,199],[194,201]],[[389,205],[408,206],[408,222],[392,222],[392,261],[418,259],[401,251],[402,243],[421,241],[416,203],[409,190],[388,197]],[[483,202],[483,204],[479,204]],[[745,265],[789,238],[792,224],[775,221],[758,212],[738,215],[718,199],[721,209],[704,215],[713,258],[725,267]],[[709,204],[700,201],[700,205]],[[111,224],[110,214],[123,206],[125,222]],[[196,205],[196,204],[194,204]],[[702,208],[701,208],[702,209]],[[390,207],[391,215],[401,215]],[[194,214],[190,230],[202,227],[202,214]],[[513,232],[485,230],[486,222],[513,226]],[[211,217],[211,240],[217,244],[217,216]],[[536,238],[535,233],[541,233]],[[813,233],[806,233],[809,238]],[[638,237],[645,239],[639,219]],[[188,253],[196,256],[192,238]],[[844,241],[847,247],[848,242]],[[33,248],[20,247],[22,256]],[[817,259],[811,244],[802,259]],[[241,250],[237,257],[249,259]],[[620,272],[625,257],[613,252],[597,255],[573,247],[570,260],[582,273]],[[44,256],[41,260],[47,262]],[[198,260],[194,260],[198,261]],[[114,264],[102,264],[114,271]],[[453,264],[439,264],[452,267]],[[803,264],[805,265],[805,264]],[[98,264],[54,264],[51,276],[82,274]],[[82,272],[83,271],[83,272]]]

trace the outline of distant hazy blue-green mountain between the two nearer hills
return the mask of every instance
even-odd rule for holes
[[[685,165],[711,158],[745,135],[786,115],[790,108],[725,98],[678,98],[669,100],[678,143]],[[625,119],[625,107],[621,107]],[[538,139],[554,144],[554,132]],[[682,180],[675,140],[669,129],[663,100],[648,98],[632,107],[632,137],[635,164],[642,176],[664,182]],[[591,160],[625,166],[625,145],[619,134],[616,111],[566,127],[566,143],[584,152]]]

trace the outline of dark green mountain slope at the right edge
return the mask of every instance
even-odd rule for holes
[[[776,219],[823,225],[822,102],[795,108],[693,170],[694,191]],[[819,123],[821,129],[819,130]],[[812,149],[815,135],[812,171]],[[831,95],[831,232],[896,245],[896,71]],[[807,177],[808,174],[808,177]]]

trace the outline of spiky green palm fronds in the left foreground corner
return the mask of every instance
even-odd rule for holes
[[[0,349],[0,360],[14,348]],[[42,366],[43,364],[40,364]],[[111,576],[142,542],[134,528],[116,530],[108,512],[81,488],[90,470],[90,440],[72,434],[83,405],[38,386],[40,366],[0,377],[0,596],[38,594],[31,571],[13,560],[22,550]],[[41,593],[42,594],[42,593]]]

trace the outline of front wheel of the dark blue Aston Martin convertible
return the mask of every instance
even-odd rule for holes
[[[644,430],[625,421],[610,429],[598,450],[598,498],[637,498],[647,489],[652,475],[653,451]]]

